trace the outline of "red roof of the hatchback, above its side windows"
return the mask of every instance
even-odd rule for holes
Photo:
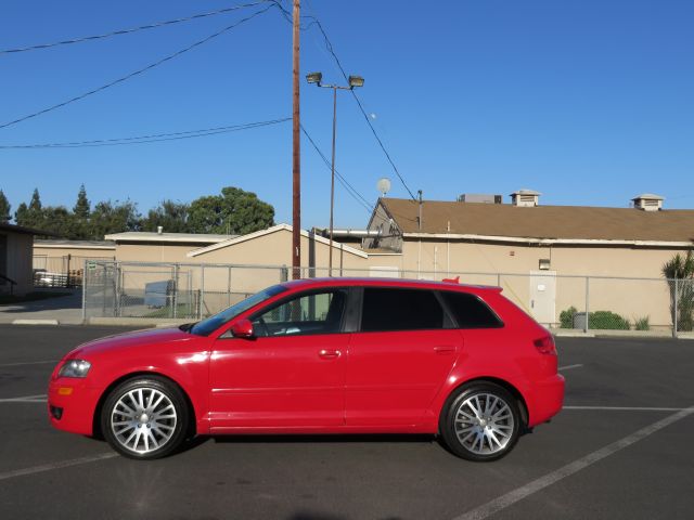
[[[501,292],[501,287],[491,285],[470,285],[458,282],[434,282],[430,280],[411,278],[377,278],[377,277],[320,277],[301,278],[284,282],[282,284],[288,289],[308,289],[311,287],[394,287],[394,288],[415,288],[436,290],[462,290],[464,292],[493,291]]]

